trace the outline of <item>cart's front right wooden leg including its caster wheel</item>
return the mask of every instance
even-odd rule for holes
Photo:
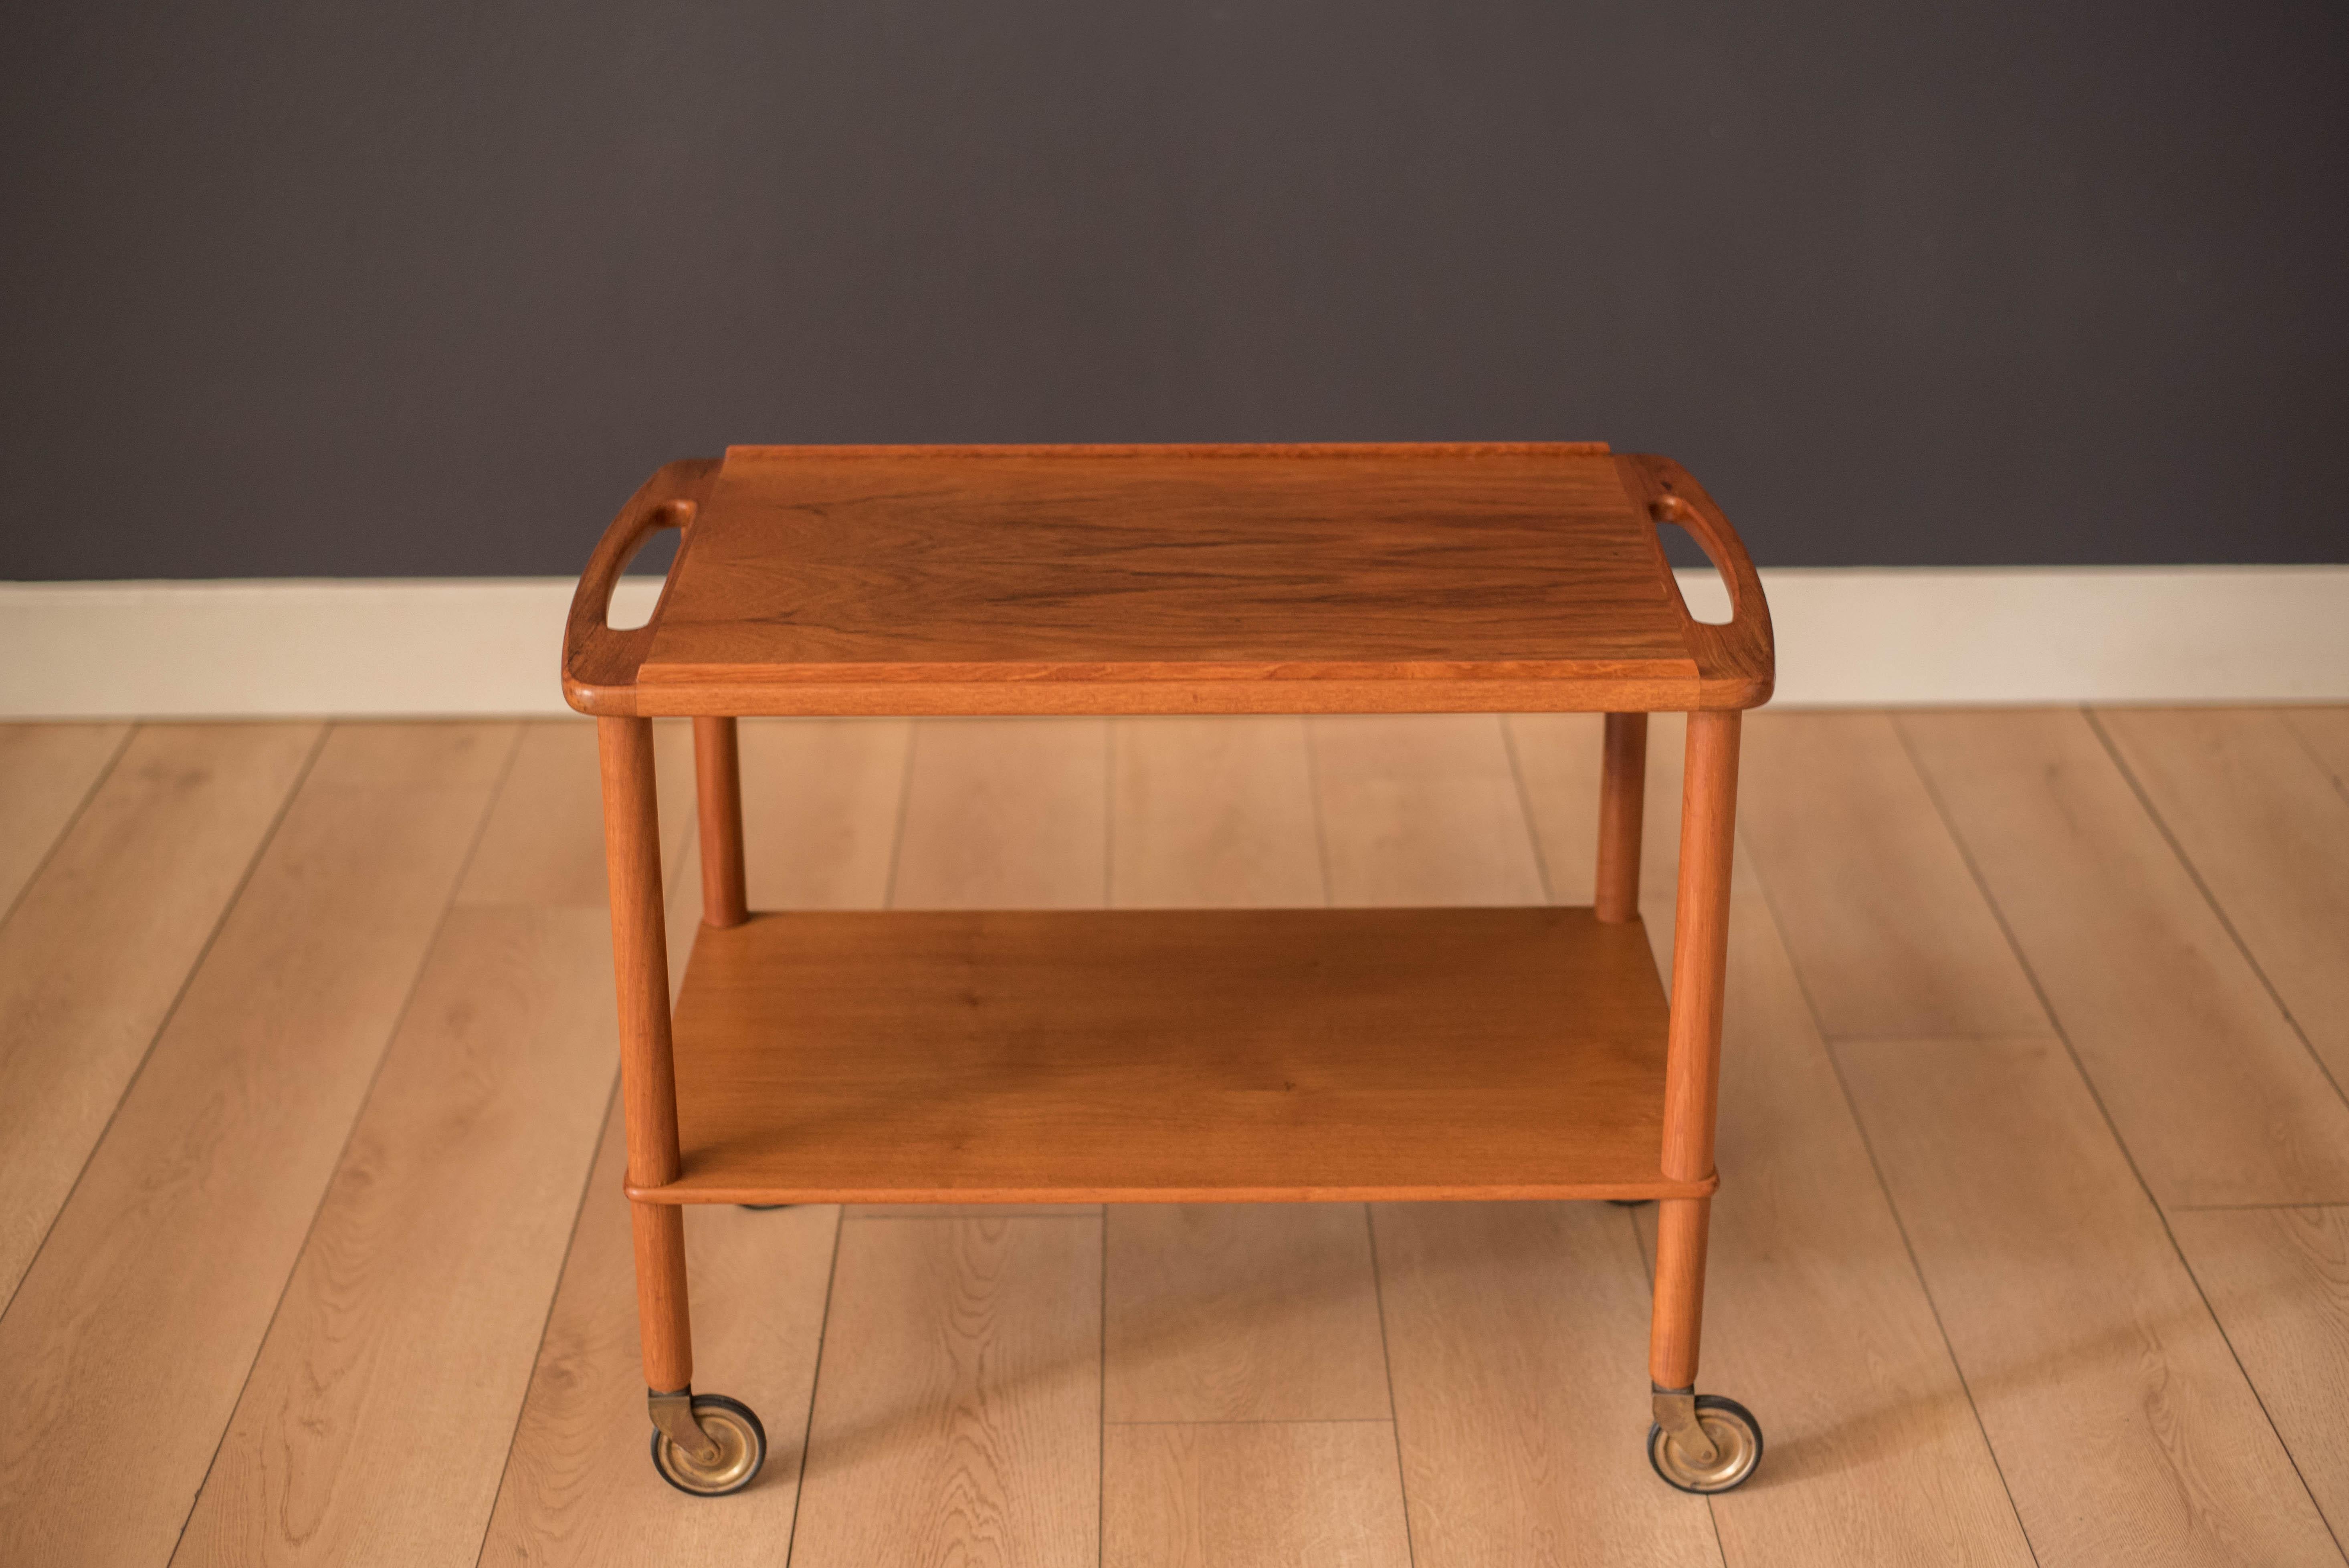
[[[1689,714],[1680,899],[1672,908],[1672,1023],[1663,1068],[1663,1174],[1672,1181],[1712,1174],[1736,800],[1738,714]],[[1668,1197],[1656,1209],[1656,1307],[1647,1357],[1656,1418],[1647,1434],[1649,1465],[1694,1493],[1729,1491],[1762,1460],[1762,1427],[1745,1406],[1696,1392],[1710,1218],[1710,1197]]]

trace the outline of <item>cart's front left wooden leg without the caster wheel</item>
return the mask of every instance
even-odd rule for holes
[[[604,758],[604,861],[611,871],[611,958],[620,991],[620,1113],[627,1181],[677,1181],[677,1068],[669,1054],[669,944],[660,908],[660,817],[653,793],[653,723],[597,718]],[[686,1232],[674,1204],[634,1204],[637,1312],[644,1385],[693,1383],[686,1319]]]

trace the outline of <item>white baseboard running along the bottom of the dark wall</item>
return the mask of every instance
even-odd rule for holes
[[[1790,707],[2349,699],[2349,566],[1762,582]],[[615,610],[641,622],[658,587]],[[1682,587],[1727,608],[1712,573]],[[568,577],[0,584],[0,718],[561,714],[568,603]]]

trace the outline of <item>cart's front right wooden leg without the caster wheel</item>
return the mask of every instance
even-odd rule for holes
[[[1738,714],[1689,714],[1680,805],[1680,899],[1672,908],[1672,1023],[1663,1068],[1663,1174],[1712,1174],[1712,1113],[1722,1068],[1722,979],[1729,967],[1729,861],[1738,807]],[[1656,1216],[1656,1319],[1649,1359],[1658,1387],[1696,1380],[1705,1303],[1701,1197],[1665,1199]]]

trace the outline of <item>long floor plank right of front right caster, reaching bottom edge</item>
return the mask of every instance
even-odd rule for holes
[[[1722,1547],[1734,1563],[2027,1563],[1804,988],[1752,869],[1738,880],[1696,1385],[1745,1401],[1769,1455],[1712,1500]]]

